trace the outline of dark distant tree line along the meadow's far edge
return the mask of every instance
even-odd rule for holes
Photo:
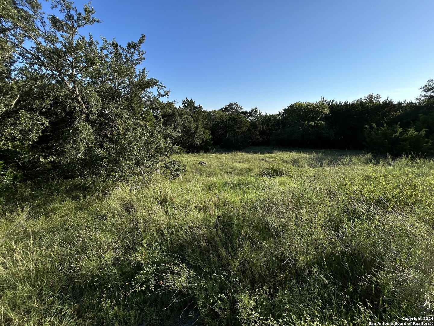
[[[277,114],[229,103],[205,111],[193,100],[167,102],[155,112],[173,132],[173,142],[188,152],[213,147],[286,146],[368,150],[375,154],[433,153],[434,80],[421,87],[416,101],[395,102],[369,94],[352,102],[321,98],[296,102]]]

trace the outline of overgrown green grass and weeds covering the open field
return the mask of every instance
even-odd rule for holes
[[[434,162],[177,155],[187,173],[3,203],[5,325],[361,325],[434,314]],[[207,166],[201,166],[205,161]],[[181,318],[181,319],[182,319]]]

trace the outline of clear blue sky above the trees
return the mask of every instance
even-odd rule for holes
[[[84,2],[84,1],[83,1]],[[82,3],[75,1],[77,7]],[[93,0],[92,34],[146,35],[149,76],[207,110],[276,113],[369,93],[414,100],[434,78],[433,0]]]

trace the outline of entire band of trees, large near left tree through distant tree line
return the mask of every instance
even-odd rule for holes
[[[145,36],[122,46],[84,36],[95,11],[50,0],[0,2],[0,173],[3,183],[40,178],[125,179],[184,166],[171,153],[246,146],[433,153],[434,81],[414,102],[370,94],[352,102],[321,98],[277,114],[229,103],[206,111],[142,68]]]

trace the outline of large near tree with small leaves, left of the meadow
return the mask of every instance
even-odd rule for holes
[[[100,45],[79,33],[99,22],[93,8],[51,4],[62,18],[33,0],[1,4],[1,69],[10,71],[1,83],[11,85],[2,94],[2,160],[25,178],[179,175],[174,146],[151,114],[149,103],[168,92],[140,68],[145,36],[126,47],[104,38]]]

